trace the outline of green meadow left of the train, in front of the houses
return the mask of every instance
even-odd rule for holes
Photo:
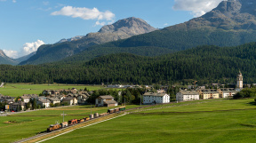
[[[127,108],[139,107],[136,105],[126,106]],[[105,113],[108,107],[92,107],[92,114]],[[62,122],[60,114],[65,112],[65,121],[73,118],[81,119],[89,117],[91,106],[74,106],[50,108],[27,113],[20,113],[11,116],[0,116],[0,142],[13,142],[22,138],[35,136],[36,133],[46,131],[50,124],[56,121]],[[13,123],[8,123],[12,121]]]

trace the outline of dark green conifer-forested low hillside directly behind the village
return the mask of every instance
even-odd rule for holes
[[[0,66],[8,83],[232,83],[239,69],[245,83],[256,80],[256,43],[236,47],[200,46],[155,58],[131,53],[109,54],[76,64]]]

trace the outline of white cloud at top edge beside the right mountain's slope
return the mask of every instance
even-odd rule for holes
[[[174,0],[174,10],[190,11],[194,17],[204,15],[212,11],[222,0]]]

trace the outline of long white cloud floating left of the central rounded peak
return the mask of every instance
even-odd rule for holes
[[[115,14],[110,11],[100,12],[97,8],[89,9],[86,7],[64,6],[60,11],[52,12],[51,15],[64,15],[72,18],[81,18],[83,20],[98,20],[95,25],[102,26],[106,22],[99,20],[114,20]]]

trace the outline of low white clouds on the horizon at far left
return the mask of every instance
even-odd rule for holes
[[[20,49],[20,52],[17,51],[12,51],[12,50],[3,50],[4,53],[8,56],[11,57],[12,59],[17,59],[22,56],[26,56],[31,52],[36,52],[37,49],[44,44],[42,40],[37,40],[34,43],[26,43],[23,44],[22,48]]]

